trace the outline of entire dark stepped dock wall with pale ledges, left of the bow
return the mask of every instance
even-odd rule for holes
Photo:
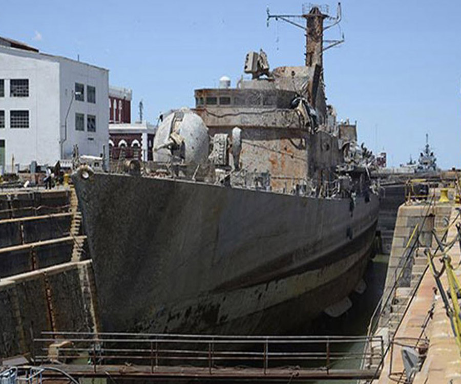
[[[72,188],[0,194],[0,366],[44,330],[95,331],[91,260]]]

